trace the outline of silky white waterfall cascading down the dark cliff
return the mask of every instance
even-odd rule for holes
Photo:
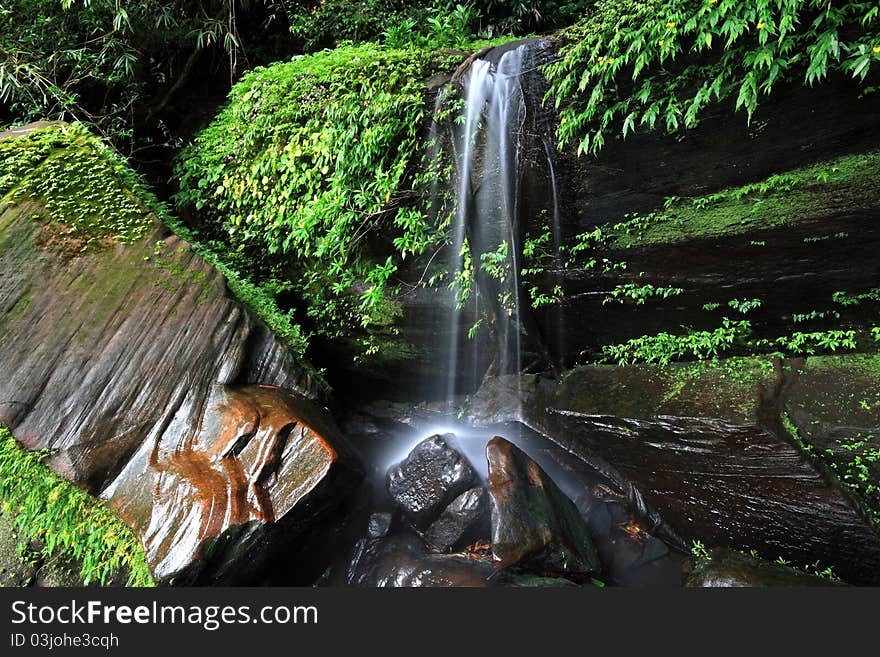
[[[450,313],[447,400],[457,394],[461,373],[470,371],[479,381],[480,363],[489,362],[496,374],[521,372],[526,356],[539,352],[537,326],[530,300],[522,286],[523,236],[528,199],[523,176],[527,153],[539,150],[545,160],[547,199],[552,216],[553,246],[559,252],[559,194],[553,166],[552,133],[541,107],[542,94],[529,94],[548,47],[528,41],[501,47],[476,59],[460,78],[461,107],[451,119],[450,142],[455,165],[455,211],[449,269],[457,277],[470,257],[474,303],[493,320],[491,354],[479,352],[480,343],[465,348],[468,326],[463,313]],[[534,89],[532,89],[534,91]],[[453,308],[455,306],[453,305]],[[540,355],[540,354],[539,354]],[[463,362],[467,361],[467,362]]]

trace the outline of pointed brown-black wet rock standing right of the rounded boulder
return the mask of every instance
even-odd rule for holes
[[[601,569],[577,507],[522,450],[496,436],[486,447],[495,565],[585,575]]]

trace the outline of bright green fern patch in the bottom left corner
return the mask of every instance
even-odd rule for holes
[[[80,576],[106,584],[122,571],[129,586],[153,586],[140,542],[99,500],[59,478],[45,465],[46,451],[22,450],[0,427],[0,503],[16,531],[82,563]]]

